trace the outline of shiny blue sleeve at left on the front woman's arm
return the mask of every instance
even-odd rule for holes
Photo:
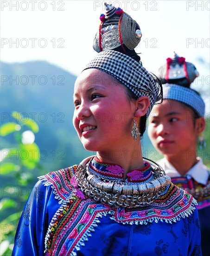
[[[55,208],[59,207],[54,196],[51,186],[44,186],[40,181],[36,183],[19,220],[13,256],[44,255],[45,235],[51,220],[49,202],[52,200]],[[55,213],[53,209],[52,212]]]

